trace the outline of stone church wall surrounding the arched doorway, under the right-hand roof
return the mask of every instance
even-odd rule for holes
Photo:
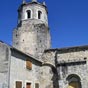
[[[60,88],[67,88],[69,75],[77,75],[81,79],[81,88],[88,86],[88,50],[61,53],[57,55],[58,77]]]

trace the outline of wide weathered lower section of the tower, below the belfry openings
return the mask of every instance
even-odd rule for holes
[[[41,21],[24,21],[13,32],[13,46],[36,57],[41,56],[51,46],[48,27]]]

